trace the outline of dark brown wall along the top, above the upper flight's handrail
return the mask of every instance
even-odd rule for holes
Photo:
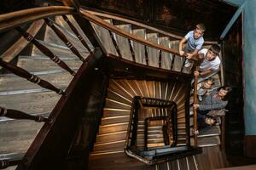
[[[207,26],[205,37],[218,39],[236,8],[218,0],[79,0],[89,8],[120,14],[184,35],[195,24]]]

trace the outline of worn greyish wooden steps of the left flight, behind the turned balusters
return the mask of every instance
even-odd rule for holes
[[[68,16],[68,18],[80,30],[73,17]],[[55,22],[57,26],[64,25],[66,27],[65,35],[73,42],[75,47],[79,47],[80,54],[86,58],[89,54],[88,50],[73,35],[73,32],[68,30],[68,26],[65,25],[66,22],[61,16],[56,17]],[[46,26],[44,35],[44,39],[38,41],[58,55],[73,71],[78,71],[82,62],[61,42],[60,38],[55,35],[49,26]],[[82,35],[85,37],[84,34]],[[92,48],[91,45],[90,48]],[[61,69],[60,66],[42,54],[35,46],[32,47],[31,55],[20,55],[18,57],[17,65],[63,90],[67,88],[69,82],[73,79],[70,73]],[[28,82],[26,79],[17,77],[14,74],[6,73],[0,75],[0,103],[5,108],[24,111],[33,116],[47,117],[60,97],[60,94],[41,88],[37,84]],[[0,117],[0,157],[22,157],[43,125],[43,122]],[[14,168],[9,167],[9,169]]]

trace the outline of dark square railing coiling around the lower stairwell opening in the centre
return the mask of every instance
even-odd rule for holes
[[[145,118],[144,125],[144,150],[137,146],[137,128],[138,117],[143,117],[140,109],[160,108],[165,109],[167,116],[148,116]],[[148,148],[148,125],[150,121],[162,122],[163,138],[165,138],[165,146],[154,146]],[[167,122],[167,123],[166,123]],[[166,126],[168,129],[166,129]],[[169,130],[166,132],[165,130]],[[172,132],[170,132],[172,131]],[[167,135],[167,136],[166,136]],[[170,139],[172,141],[170,141]],[[167,140],[167,141],[166,141]],[[189,144],[185,146],[177,146],[177,105],[175,102],[163,99],[143,98],[135,96],[131,105],[130,122],[125,140],[125,153],[134,157],[139,161],[143,161],[148,165],[170,161],[181,158],[183,156],[195,155],[201,150],[193,148]]]

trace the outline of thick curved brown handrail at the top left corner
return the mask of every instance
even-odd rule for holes
[[[40,8],[28,8],[0,15],[0,32],[12,27],[20,26],[29,21],[43,19],[58,14],[74,14],[75,9],[64,6],[51,6]]]

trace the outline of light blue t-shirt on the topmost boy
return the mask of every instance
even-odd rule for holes
[[[187,46],[185,49],[185,52],[191,52],[194,51],[195,49],[200,50],[201,46],[204,43],[204,38],[200,37],[198,39],[194,38],[194,31],[189,31],[187,35],[185,36],[187,40]]]

